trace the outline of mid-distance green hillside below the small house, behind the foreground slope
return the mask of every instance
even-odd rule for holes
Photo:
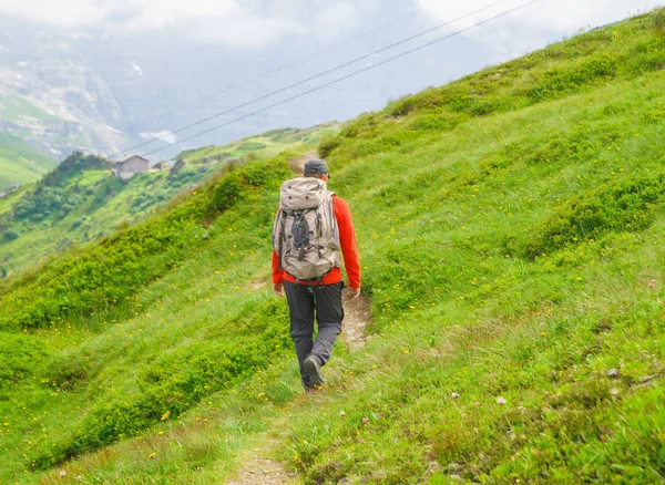
[[[126,184],[114,177],[103,162],[85,169],[69,169],[65,161],[28,192],[0,200],[0,276],[24,269],[73,244],[95,240],[120,225],[135,224],[228,163],[263,159],[288,149],[311,151],[321,136],[338,133],[336,126],[276,130],[228,145],[184,152],[178,159],[186,159],[187,165],[177,172],[140,174]],[[19,153],[14,145],[7,149]],[[74,164],[82,159],[79,155],[68,158]]]

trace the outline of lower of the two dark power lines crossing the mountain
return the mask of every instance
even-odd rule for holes
[[[280,105],[283,105],[283,104],[289,103],[289,102],[291,102],[291,101],[295,101],[295,100],[297,100],[297,99],[299,99],[299,97],[306,96],[307,94],[311,94],[311,93],[314,93],[314,92],[320,91],[320,90],[323,90],[323,89],[325,89],[325,87],[328,87],[328,86],[330,86],[330,85],[332,85],[332,84],[337,84],[337,83],[339,83],[339,82],[341,82],[341,81],[346,81],[346,80],[348,80],[348,79],[350,79],[350,78],[355,78],[355,76],[357,76],[358,74],[362,74],[362,73],[365,73],[365,72],[367,72],[367,71],[370,71],[370,70],[372,70],[372,69],[376,69],[376,68],[378,68],[378,66],[380,66],[380,65],[388,64],[389,62],[392,62],[392,61],[396,61],[396,60],[398,60],[398,59],[401,59],[401,58],[405,58],[405,56],[407,56],[407,55],[410,55],[410,54],[412,54],[413,52],[418,52],[418,51],[420,51],[420,50],[422,50],[422,49],[426,49],[426,48],[428,48],[428,47],[430,47],[430,45],[437,44],[437,43],[439,43],[439,42],[442,42],[442,41],[444,41],[444,40],[447,40],[447,39],[450,39],[450,38],[452,38],[452,37],[456,37],[456,35],[459,35],[459,34],[461,34],[461,33],[463,33],[463,32],[467,32],[467,31],[469,31],[469,30],[471,30],[471,29],[475,29],[477,27],[483,25],[483,24],[485,24],[485,23],[492,22],[492,21],[494,21],[494,20],[497,20],[497,19],[500,19],[500,18],[502,18],[502,17],[505,17],[505,16],[509,16],[509,14],[511,14],[511,13],[514,13],[514,12],[516,12],[518,10],[522,10],[522,9],[524,9],[524,8],[529,7],[529,6],[532,6],[532,4],[534,4],[534,3],[538,3],[538,2],[540,2],[540,1],[541,1],[541,0],[531,0],[531,1],[526,2],[526,3],[522,3],[522,4],[521,4],[521,6],[519,6],[519,7],[515,7],[515,8],[513,8],[513,9],[507,10],[507,11],[504,11],[504,12],[502,12],[502,13],[498,14],[498,16],[491,17],[491,18],[489,18],[489,19],[485,19],[485,20],[483,20],[483,21],[477,22],[477,23],[474,23],[473,25],[470,25],[470,27],[467,27],[467,28],[464,28],[464,29],[458,30],[458,31],[456,31],[456,32],[452,32],[452,33],[450,33],[450,34],[448,34],[448,35],[443,35],[443,37],[441,37],[441,38],[439,38],[439,39],[436,39],[436,40],[433,40],[433,41],[431,41],[431,42],[424,43],[424,44],[422,44],[422,45],[419,45],[419,47],[417,47],[417,48],[415,48],[415,49],[411,49],[411,50],[408,50],[408,51],[406,51],[406,52],[402,52],[401,54],[398,54],[398,55],[395,55],[395,56],[392,56],[392,58],[386,59],[386,60],[383,60],[383,61],[381,61],[381,62],[377,62],[376,64],[369,65],[369,66],[367,66],[367,68],[365,68],[365,69],[361,69],[361,70],[359,70],[359,71],[352,72],[352,73],[350,73],[350,74],[347,74],[347,75],[344,75],[344,76],[341,76],[341,78],[337,78],[336,80],[329,81],[329,82],[327,82],[327,83],[325,83],[325,84],[321,84],[321,85],[319,85],[319,86],[317,86],[317,87],[314,87],[314,89],[311,89],[311,90],[305,91],[305,92],[303,92],[303,93],[300,93],[300,94],[296,94],[295,96],[288,97],[288,99],[286,99],[286,100],[282,100],[282,101],[279,101],[279,102],[277,102],[277,103],[270,104],[269,106],[263,107],[263,109],[260,109],[260,110],[256,110],[256,111],[254,111],[254,112],[252,112],[252,113],[248,113],[248,114],[246,114],[246,115],[239,116],[239,117],[237,117],[237,118],[234,118],[234,120],[231,120],[231,121],[228,121],[228,122],[222,123],[221,125],[214,126],[214,127],[212,127],[212,128],[209,128],[209,130],[205,130],[205,131],[203,131],[203,132],[200,132],[200,133],[196,133],[196,134],[194,134],[194,135],[192,135],[192,136],[187,136],[186,138],[183,138],[183,140],[181,140],[181,141],[176,142],[176,143],[174,143],[173,145],[170,145],[170,146],[164,146],[164,147],[162,147],[162,148],[154,149],[154,151],[152,151],[152,152],[149,152],[149,153],[144,154],[143,156],[144,156],[144,157],[147,157],[147,156],[150,156],[150,155],[153,155],[153,154],[155,154],[155,153],[163,152],[164,149],[171,148],[172,146],[180,145],[180,144],[182,144],[182,143],[188,142],[190,140],[193,140],[193,138],[196,138],[196,137],[198,137],[198,136],[205,135],[205,134],[207,134],[207,133],[214,132],[214,131],[216,131],[216,130],[219,130],[221,127],[228,126],[228,125],[231,125],[231,124],[234,124],[234,123],[237,123],[237,122],[239,122],[239,121],[246,120],[246,118],[248,118],[248,117],[250,117],[250,116],[257,115],[257,114],[259,114],[259,113],[264,113],[264,112],[266,112],[266,111],[268,111],[268,110],[272,110],[273,107],[277,107],[277,106],[280,106]],[[467,17],[468,17],[468,16],[467,16]]]

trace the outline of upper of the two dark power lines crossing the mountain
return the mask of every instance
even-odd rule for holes
[[[504,2],[507,2],[507,1],[508,1],[508,0],[498,0],[498,1],[495,1],[495,2],[491,3],[491,4],[487,6],[487,7],[483,7],[483,8],[481,8],[481,9],[478,9],[478,10],[473,11],[473,12],[467,13],[466,16],[462,16],[462,17],[459,17],[459,18],[457,18],[457,19],[454,19],[454,20],[450,20],[450,21],[448,21],[448,22],[444,22],[444,23],[438,24],[438,25],[436,25],[436,27],[433,27],[433,28],[431,28],[431,29],[427,29],[427,30],[424,30],[424,31],[422,31],[422,32],[419,32],[419,33],[417,33],[417,34],[415,34],[415,35],[408,37],[408,38],[406,38],[406,39],[402,39],[402,40],[400,40],[400,41],[398,41],[398,42],[395,42],[395,43],[392,43],[392,44],[386,45],[386,47],[383,47],[383,48],[379,49],[378,51],[374,51],[374,52],[371,52],[371,53],[369,53],[369,54],[361,55],[361,56],[359,56],[359,58],[356,58],[356,59],[354,59],[354,60],[351,60],[351,61],[347,61],[347,62],[345,62],[345,63],[342,63],[342,64],[336,65],[335,68],[331,68],[331,69],[328,69],[328,70],[326,70],[326,71],[319,72],[318,74],[315,74],[315,75],[313,75],[313,76],[310,76],[310,78],[307,78],[307,79],[304,79],[304,80],[301,80],[301,81],[298,81],[298,82],[296,82],[296,83],[294,83],[294,84],[289,84],[289,85],[287,85],[287,86],[285,86],[285,87],[280,87],[280,89],[278,89],[278,90],[276,90],[276,91],[273,91],[273,92],[270,92],[270,93],[268,93],[268,94],[265,94],[265,95],[263,95],[263,96],[259,96],[259,97],[255,97],[254,100],[250,100],[250,101],[247,101],[246,103],[238,104],[238,105],[236,105],[236,106],[233,106],[233,107],[231,107],[231,109],[228,109],[228,110],[226,110],[226,111],[223,111],[223,112],[221,112],[221,113],[216,113],[216,114],[214,114],[214,115],[212,115],[212,116],[207,116],[207,117],[205,117],[205,118],[202,118],[202,120],[200,120],[200,121],[197,121],[197,122],[191,123],[191,124],[188,124],[188,125],[186,125],[186,126],[183,126],[183,127],[181,127],[181,128],[177,128],[177,130],[175,130],[175,131],[171,132],[168,135],[155,136],[154,138],[152,138],[152,140],[149,140],[147,142],[140,143],[139,145],[132,146],[132,147],[130,147],[130,148],[127,148],[127,149],[124,149],[124,151],[122,151],[122,152],[119,152],[119,153],[116,153],[116,154],[113,154],[113,155],[111,155],[109,158],[114,158],[114,157],[116,157],[116,156],[119,156],[119,155],[122,155],[122,154],[124,154],[124,153],[126,153],[126,152],[130,152],[130,151],[133,151],[133,149],[136,149],[136,148],[141,148],[141,147],[143,147],[143,146],[150,145],[150,144],[152,144],[152,143],[156,142],[156,141],[164,141],[164,140],[165,140],[166,137],[168,137],[168,136],[172,136],[172,135],[175,135],[175,134],[177,134],[177,133],[182,133],[182,132],[184,132],[185,130],[190,130],[190,128],[193,128],[193,127],[195,127],[195,126],[202,125],[202,124],[204,124],[204,123],[207,123],[207,122],[209,122],[209,121],[212,121],[212,120],[215,120],[215,118],[217,118],[217,117],[219,117],[219,116],[224,116],[225,114],[232,113],[232,112],[234,112],[234,111],[241,110],[241,109],[243,109],[243,107],[246,107],[246,106],[249,106],[249,105],[252,105],[252,104],[255,104],[255,103],[257,103],[257,102],[259,102],[259,101],[263,101],[263,100],[266,100],[266,99],[268,99],[268,97],[272,97],[272,96],[274,96],[275,94],[280,94],[280,93],[283,93],[283,92],[285,92],[285,91],[288,91],[288,90],[290,90],[290,89],[293,89],[293,87],[297,87],[297,86],[299,86],[299,85],[303,85],[303,84],[305,84],[305,83],[308,83],[308,82],[310,82],[310,81],[314,81],[314,80],[316,80],[316,79],[318,79],[318,78],[323,78],[323,76],[324,76],[324,75],[326,75],[326,74],[330,74],[330,73],[332,73],[332,72],[335,72],[335,71],[339,71],[340,69],[348,68],[349,65],[351,65],[351,64],[355,64],[355,63],[357,63],[357,62],[359,62],[359,61],[362,61],[362,60],[369,59],[369,58],[371,58],[371,56],[375,56],[375,55],[377,55],[377,54],[380,54],[380,53],[382,53],[382,52],[385,52],[385,51],[388,51],[388,50],[390,50],[390,49],[393,49],[393,48],[396,48],[396,47],[398,47],[398,45],[405,44],[405,43],[407,43],[407,42],[409,42],[409,41],[412,41],[412,40],[415,40],[415,39],[418,39],[418,38],[421,38],[421,37],[423,37],[423,35],[427,35],[428,33],[431,33],[431,32],[434,32],[434,31],[437,31],[437,30],[440,30],[440,29],[442,29],[443,27],[450,25],[451,23],[454,23],[454,22],[459,22],[460,20],[464,20],[464,19],[467,19],[467,18],[469,18],[469,17],[471,17],[471,16],[474,16],[474,14],[477,14],[477,13],[481,13],[481,12],[483,12],[483,11],[485,11],[485,10],[489,10],[489,9],[491,9],[491,8],[495,7],[495,6],[500,4],[500,3],[504,3]],[[379,65],[380,65],[380,64],[379,64]]]

